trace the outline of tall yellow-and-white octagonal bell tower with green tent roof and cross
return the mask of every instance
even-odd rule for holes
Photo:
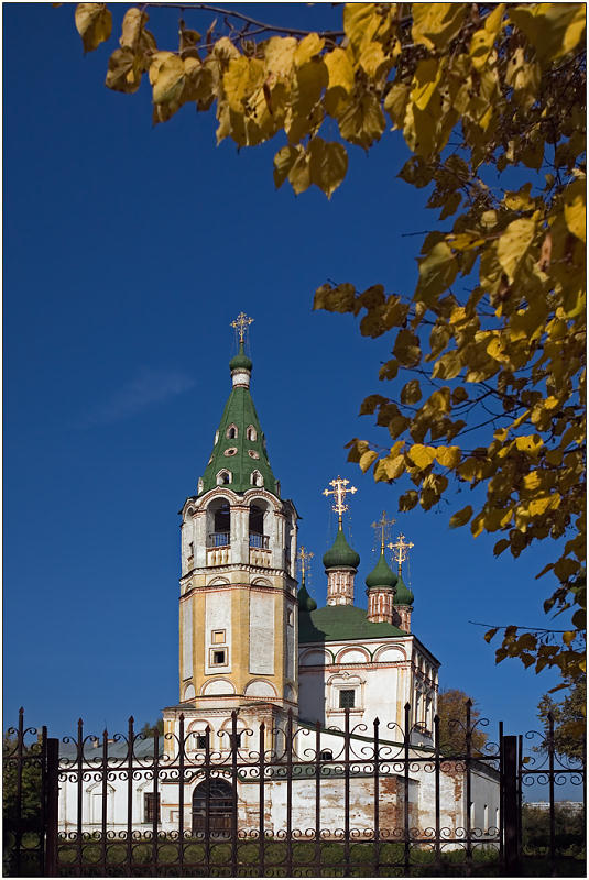
[[[208,726],[221,750],[232,711],[244,732],[262,721],[282,729],[288,710],[297,712],[297,513],[281,497],[250,394],[251,320],[242,312],[233,321],[231,393],[181,512],[179,704],[164,710],[166,732],[182,712],[186,730],[198,739]]]

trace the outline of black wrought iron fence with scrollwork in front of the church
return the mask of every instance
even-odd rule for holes
[[[457,723],[460,754],[440,743],[437,717],[430,745],[421,744],[408,705],[403,727],[352,726],[352,717],[346,710],[334,729],[290,713],[254,730],[239,728],[233,713],[229,729],[201,732],[181,714],[174,733],[153,737],[132,718],[112,737],[86,734],[80,721],[58,754],[45,728],[37,737],[24,727],[21,711],[4,738],[4,873],[513,876],[522,792],[543,774],[556,870],[555,787],[563,773],[583,784],[585,763],[561,766],[552,727],[546,754],[537,752],[544,768],[525,761],[522,738],[501,725],[497,744],[473,748],[484,719],[472,723],[469,704]],[[33,816],[25,790],[36,791]]]

